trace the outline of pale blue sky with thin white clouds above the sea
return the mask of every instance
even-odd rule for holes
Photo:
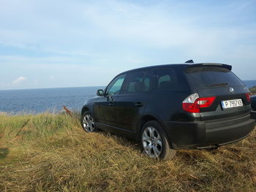
[[[108,85],[189,59],[256,80],[256,0],[0,0],[1,90]]]

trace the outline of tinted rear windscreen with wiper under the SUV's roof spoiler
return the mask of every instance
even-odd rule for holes
[[[244,85],[229,69],[217,66],[189,67],[185,71],[189,83],[197,88]]]

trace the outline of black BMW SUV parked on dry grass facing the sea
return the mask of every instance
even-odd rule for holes
[[[217,148],[255,127],[250,94],[226,64],[170,64],[118,74],[86,101],[85,131],[105,129],[142,143],[152,158]]]

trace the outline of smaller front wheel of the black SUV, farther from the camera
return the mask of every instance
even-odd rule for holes
[[[89,111],[86,111],[83,113],[80,123],[83,130],[88,133],[98,131],[98,128],[95,126],[95,123],[94,123],[94,118],[91,115],[91,112]]]

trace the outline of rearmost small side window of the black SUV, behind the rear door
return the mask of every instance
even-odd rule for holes
[[[169,91],[177,86],[177,77],[173,69],[157,69],[155,77],[157,90]]]

